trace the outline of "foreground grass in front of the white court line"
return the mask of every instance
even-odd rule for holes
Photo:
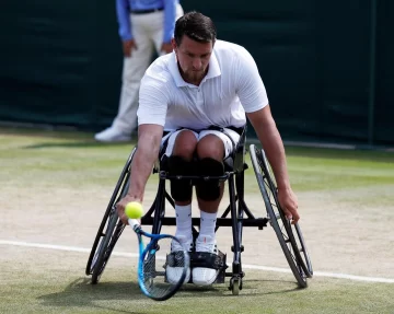
[[[50,255],[51,263],[58,261],[46,267],[34,259],[0,261],[9,270],[0,283],[1,313],[394,313],[393,284],[314,278],[300,290],[290,275],[251,270],[240,295],[231,294],[228,282],[210,288],[187,284],[174,298],[155,302],[139,291],[134,267],[118,266],[127,259],[114,257],[101,282],[91,286],[78,267],[84,254],[68,253],[65,259],[65,253]]]

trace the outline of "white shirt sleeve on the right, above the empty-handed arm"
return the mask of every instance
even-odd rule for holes
[[[242,48],[235,63],[236,93],[246,113],[257,112],[268,105],[267,92],[251,54]]]

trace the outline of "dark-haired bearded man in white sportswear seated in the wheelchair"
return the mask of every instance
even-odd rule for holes
[[[147,70],[140,86],[138,109],[138,149],[131,163],[129,190],[117,203],[118,214],[127,223],[125,206],[142,202],[147,181],[166,141],[163,158],[169,173],[175,175],[220,176],[223,159],[240,140],[239,130],[246,116],[266,151],[278,185],[278,200],[287,218],[299,220],[298,201],[287,171],[283,143],[271,116],[265,86],[257,66],[247,50],[217,40],[212,21],[198,12],[177,20],[174,51],[158,58]],[[166,136],[163,138],[163,132]],[[171,181],[175,200],[176,233],[184,248],[217,255],[216,220],[223,183],[195,183],[200,209],[199,235],[192,234],[193,185]],[[172,252],[179,249],[175,245]],[[212,258],[210,258],[212,260]],[[169,280],[176,279],[176,267],[169,267]],[[215,267],[196,267],[185,281],[211,284],[218,276]]]

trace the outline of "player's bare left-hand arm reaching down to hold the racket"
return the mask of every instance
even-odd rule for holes
[[[129,201],[142,202],[143,193],[153,164],[159,156],[163,127],[160,125],[140,125],[138,128],[137,151],[131,162],[130,186],[126,197],[116,206],[124,223],[127,223],[125,207]]]

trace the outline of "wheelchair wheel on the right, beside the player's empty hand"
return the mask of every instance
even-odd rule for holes
[[[304,288],[308,286],[306,277],[312,277],[313,270],[300,225],[291,224],[279,206],[276,184],[270,175],[264,151],[251,144],[250,152],[269,223],[275,230],[298,284]]]

